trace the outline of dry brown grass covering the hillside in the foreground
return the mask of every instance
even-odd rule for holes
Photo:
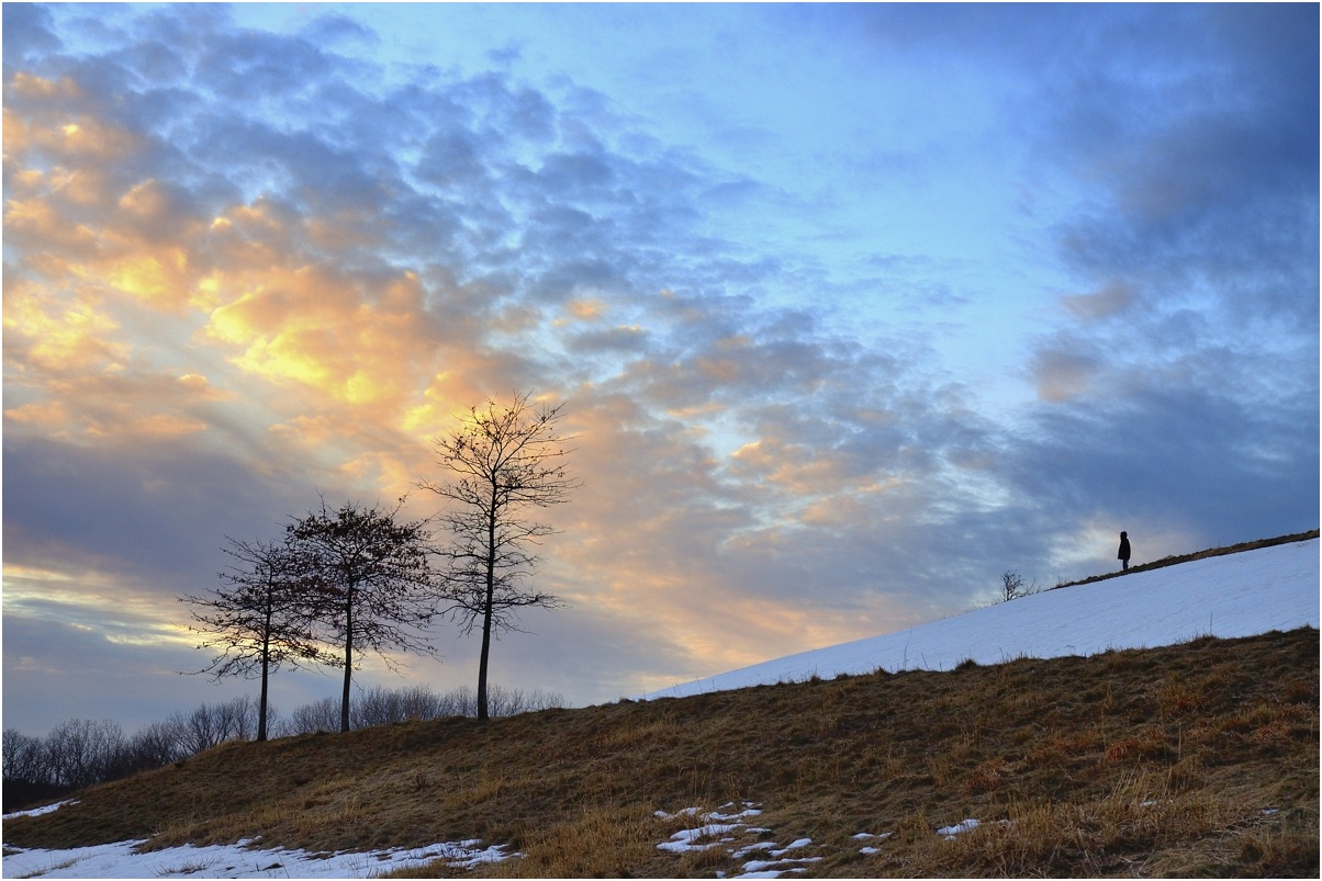
[[[481,839],[525,856],[411,874],[715,877],[758,833],[668,853],[654,812],[735,800],[812,839],[808,876],[1317,877],[1318,633],[231,744],[79,799],[5,840]]]

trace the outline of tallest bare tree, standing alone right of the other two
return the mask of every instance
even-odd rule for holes
[[[477,667],[477,717],[488,717],[486,672],[492,637],[514,626],[517,610],[554,609],[561,601],[524,582],[535,569],[533,548],[555,531],[531,519],[535,509],[561,505],[579,483],[564,470],[571,450],[558,431],[561,408],[534,407],[529,394],[508,407],[494,400],[469,416],[452,433],[435,440],[439,464],[453,474],[449,482],[422,482],[447,499],[440,522],[452,534],[442,551],[448,568],[443,596],[453,604],[465,635],[483,635]]]

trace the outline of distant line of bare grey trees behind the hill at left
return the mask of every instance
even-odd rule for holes
[[[563,707],[563,697],[541,689],[488,689],[492,716]],[[272,737],[340,730],[340,700],[327,697],[299,707],[288,716],[268,711]],[[370,728],[411,719],[476,716],[477,696],[467,686],[436,693],[427,686],[408,688],[369,688],[350,701],[353,728]],[[184,761],[231,740],[256,737],[258,703],[250,696],[218,704],[202,704],[190,712],[176,712],[163,722],[152,722],[135,734],[126,734],[119,722],[71,719],[45,737],[30,737],[5,729],[4,804],[5,812],[59,798],[75,790],[130,777],[153,767]]]

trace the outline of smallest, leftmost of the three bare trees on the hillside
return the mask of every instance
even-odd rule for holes
[[[292,664],[336,664],[312,631],[313,606],[301,581],[303,561],[288,543],[226,539],[222,548],[237,565],[221,572],[223,586],[212,596],[180,597],[193,604],[194,631],[206,633],[198,649],[219,649],[198,672],[217,680],[223,676],[260,678],[256,738],[267,737],[267,689],[270,674]],[[194,750],[196,752],[196,750]]]

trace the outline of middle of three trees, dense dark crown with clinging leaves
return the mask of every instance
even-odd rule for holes
[[[402,505],[402,499],[401,499]],[[432,573],[428,564],[431,536],[426,522],[399,522],[399,506],[382,510],[345,502],[287,527],[296,551],[300,581],[316,605],[317,626],[324,639],[342,647],[344,666],[340,730],[349,730],[349,687],[360,660],[356,652],[370,649],[387,666],[386,652],[432,652],[422,634],[435,612]]]

